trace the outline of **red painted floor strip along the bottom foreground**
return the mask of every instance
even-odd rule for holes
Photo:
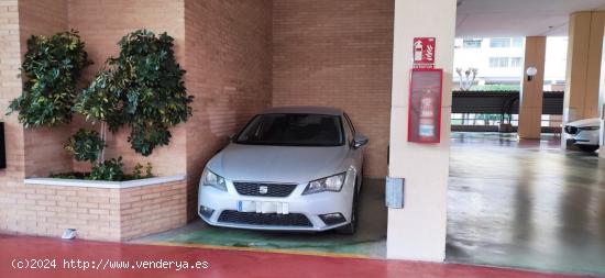
[[[48,264],[53,259],[55,266]],[[79,267],[78,259],[80,262]],[[74,264],[70,265],[70,262]],[[117,262],[129,267],[112,269]],[[151,262],[155,268],[141,268]],[[166,262],[166,263],[163,263]],[[167,267],[173,262],[170,269]],[[189,268],[184,267],[187,262]],[[200,262],[200,263],[197,263]],[[204,269],[204,263],[208,268]],[[30,264],[46,269],[19,268]],[[178,265],[176,264],[178,263]],[[88,264],[88,265],[86,265]],[[136,265],[139,264],[139,265]],[[163,265],[162,265],[163,264]],[[198,264],[196,266],[196,264]],[[87,266],[88,269],[84,270]],[[124,265],[122,265],[123,267]],[[147,265],[151,267],[151,265]],[[195,268],[198,267],[198,268]],[[102,269],[105,268],[105,269]],[[578,277],[453,264],[377,260],[0,235],[0,277]]]

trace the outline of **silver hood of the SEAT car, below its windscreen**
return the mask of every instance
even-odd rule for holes
[[[232,143],[208,163],[208,168],[231,181],[302,184],[345,171],[348,149]]]

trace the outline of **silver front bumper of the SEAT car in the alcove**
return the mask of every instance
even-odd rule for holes
[[[320,192],[302,196],[301,192],[305,186],[299,185],[288,197],[277,198],[241,196],[235,191],[231,182],[227,184],[228,192],[207,186],[201,186],[199,189],[198,215],[210,225],[249,230],[320,232],[346,225],[351,221],[352,190],[345,190],[346,186],[340,192]],[[255,220],[261,222],[254,224],[226,220],[224,215],[221,218],[222,213],[226,213],[226,215],[237,214],[240,201],[285,203],[287,205],[287,213],[243,212],[246,219],[252,218],[254,220],[256,218]],[[201,205],[212,209],[212,214],[210,216],[202,215],[200,212]],[[341,213],[345,221],[332,225],[326,224],[319,215],[328,213]],[[288,219],[300,220],[302,215],[308,220],[308,225],[287,224]],[[278,222],[286,224],[272,223],[272,220],[280,220]]]

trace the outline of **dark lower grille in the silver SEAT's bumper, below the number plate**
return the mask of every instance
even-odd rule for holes
[[[268,226],[314,226],[309,219],[301,213],[277,214],[232,210],[223,211],[219,216],[219,222]]]

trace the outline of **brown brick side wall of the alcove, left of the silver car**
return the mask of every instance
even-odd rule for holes
[[[189,218],[208,159],[250,118],[271,105],[270,0],[185,1],[186,86],[195,96],[187,123]]]

